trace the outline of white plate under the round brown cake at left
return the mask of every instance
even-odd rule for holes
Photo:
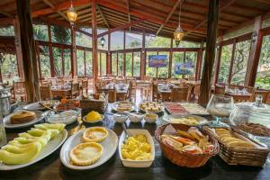
[[[20,112],[20,110],[18,110],[16,112]],[[21,124],[12,124],[10,122],[10,117],[14,113],[11,113],[11,114],[5,116],[4,119],[3,119],[4,128],[8,128],[8,129],[25,128],[25,127],[31,126],[34,123],[37,123],[37,122],[41,121],[45,117],[45,112],[40,112],[40,111],[33,111],[33,112],[36,113],[37,118],[32,120],[32,121],[28,121],[26,123],[21,123]]]

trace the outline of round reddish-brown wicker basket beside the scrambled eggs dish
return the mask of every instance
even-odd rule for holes
[[[170,124],[162,125],[158,127],[155,131],[155,138],[157,139],[160,148],[165,157],[167,157],[172,163],[178,166],[186,166],[186,167],[199,167],[205,165],[210,157],[215,156],[219,152],[219,143],[216,139],[210,137],[211,144],[214,146],[214,149],[211,154],[198,154],[193,155],[184,151],[179,151],[174,148],[171,148],[164,144],[160,139],[160,136],[163,134],[164,130]],[[175,130],[188,130],[190,126],[185,126],[182,124],[174,124],[172,126]],[[204,130],[201,130],[203,134],[205,134]]]

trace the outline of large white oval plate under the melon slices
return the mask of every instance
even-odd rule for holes
[[[58,137],[49,140],[48,144],[41,149],[39,156],[33,159],[31,162],[23,165],[4,165],[0,163],[0,170],[14,170],[25,166],[30,166],[40,161],[41,159],[48,157],[51,153],[57,150],[65,142],[66,139],[67,139],[67,130],[64,129],[58,134]]]

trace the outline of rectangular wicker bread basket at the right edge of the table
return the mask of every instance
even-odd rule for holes
[[[246,165],[246,166],[264,166],[269,153],[269,149],[265,146],[257,143],[253,139],[249,139],[243,133],[238,130],[233,130],[233,133],[237,134],[243,139],[250,140],[257,145],[257,148],[231,148],[226,144],[223,144],[220,138],[208,127],[203,128],[212,137],[218,140],[220,144],[220,157],[229,165]]]

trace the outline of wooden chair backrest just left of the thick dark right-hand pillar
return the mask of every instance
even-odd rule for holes
[[[188,102],[190,96],[189,87],[172,88],[171,101],[172,102]]]

